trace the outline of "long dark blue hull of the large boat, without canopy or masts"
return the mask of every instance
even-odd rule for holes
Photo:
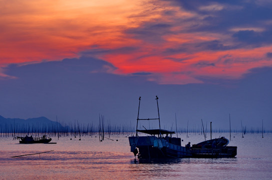
[[[155,136],[132,136],[128,137],[128,139],[130,151],[133,152],[135,156],[137,155],[139,159],[169,157],[223,158],[235,157],[237,154],[236,146],[222,146],[216,148],[186,148],[180,144],[171,143],[171,140],[167,138],[159,138]]]

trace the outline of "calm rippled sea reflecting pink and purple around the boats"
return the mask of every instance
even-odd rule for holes
[[[178,135],[182,145],[204,140],[201,134]],[[219,136],[229,138],[228,133],[212,134]],[[272,133],[264,133],[263,138],[231,134],[229,145],[237,146],[236,158],[151,163],[134,163],[125,135],[102,142],[94,136],[70,138],[53,137],[56,144],[19,144],[12,137],[0,137],[0,179],[272,179]],[[53,151],[11,158],[49,150]]]

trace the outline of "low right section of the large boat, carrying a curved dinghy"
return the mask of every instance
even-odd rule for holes
[[[237,146],[227,146],[229,140],[225,137],[205,140],[191,147],[192,157],[200,158],[221,158],[235,157]]]

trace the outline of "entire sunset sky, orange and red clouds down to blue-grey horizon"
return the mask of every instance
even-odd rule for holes
[[[271,77],[270,0],[0,0],[4,117],[271,129]]]

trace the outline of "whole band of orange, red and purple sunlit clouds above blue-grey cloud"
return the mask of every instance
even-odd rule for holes
[[[162,84],[240,78],[250,68],[271,66],[265,54],[272,46],[234,39],[265,27],[215,26],[218,13],[237,6],[208,3],[186,10],[171,0],[0,1],[0,67],[85,54],[112,63],[116,69],[108,73],[145,72],[147,80]]]

